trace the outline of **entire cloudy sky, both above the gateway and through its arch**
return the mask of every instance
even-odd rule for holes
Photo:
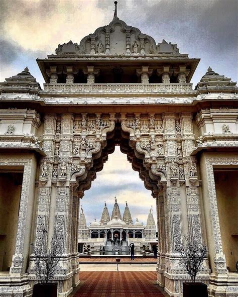
[[[113,0],[0,0],[0,81],[26,66],[43,86],[36,58],[55,53],[58,44],[80,40],[113,18]],[[201,58],[194,85],[208,66],[237,80],[237,0],[118,0],[117,16],[151,35],[156,43],[176,43],[181,53]],[[113,180],[113,182],[112,182]],[[123,185],[123,189],[122,189]],[[146,221],[150,192],[126,155],[109,155],[103,171],[85,192],[88,221],[99,218],[103,201],[111,212],[113,197],[121,211],[129,202],[135,220]],[[91,205],[94,208],[92,210]]]

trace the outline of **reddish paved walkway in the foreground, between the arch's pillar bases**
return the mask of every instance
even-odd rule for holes
[[[78,290],[70,296],[164,296],[156,284],[156,272],[80,272]]]

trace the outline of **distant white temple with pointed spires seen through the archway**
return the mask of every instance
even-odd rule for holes
[[[114,245],[113,249],[111,241],[115,243],[116,239],[118,239],[119,245]],[[157,246],[157,240],[156,225],[151,209],[148,214],[146,226],[143,226],[143,223],[140,223],[138,218],[133,223],[128,203],[126,202],[122,217],[115,197],[111,217],[109,216],[105,202],[100,222],[97,222],[95,219],[94,222],[87,226],[85,214],[81,208],[78,227],[80,252],[83,252],[84,246],[90,246],[90,251],[94,253],[98,253],[100,248],[104,247],[105,255],[115,254],[115,252],[126,255],[129,254],[129,244],[133,241],[136,251],[141,253],[143,246],[149,246],[153,250]]]

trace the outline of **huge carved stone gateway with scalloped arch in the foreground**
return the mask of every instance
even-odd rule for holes
[[[183,295],[179,250],[189,234],[208,247],[197,278],[209,296],[237,296],[236,83],[209,67],[194,89],[199,59],[156,43],[116,10],[37,63],[44,89],[28,68],[0,83],[0,295],[31,296],[33,247],[52,236],[63,252],[58,296],[78,285],[80,199],[119,145],[156,200],[158,284]],[[105,210],[100,224],[115,217]]]

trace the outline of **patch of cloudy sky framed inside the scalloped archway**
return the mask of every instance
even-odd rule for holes
[[[145,188],[144,181],[139,178],[139,173],[132,169],[127,155],[123,154],[118,146],[115,147],[113,154],[108,155],[103,170],[97,172],[97,178],[92,182],[91,188],[84,192],[80,201],[87,224],[94,221],[94,218],[97,221],[100,220],[104,201],[111,216],[114,196],[116,196],[122,217],[127,201],[134,222],[138,218],[146,225],[151,206],[153,206],[153,215],[156,220],[156,201],[151,196],[151,191]]]

